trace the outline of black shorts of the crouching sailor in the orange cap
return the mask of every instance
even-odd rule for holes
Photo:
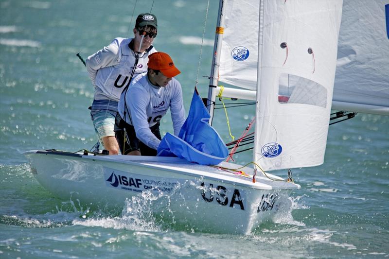
[[[154,134],[154,136],[161,140],[159,125],[160,123],[158,122],[154,126],[150,127],[150,130]],[[157,155],[157,150],[150,148],[137,138],[134,127],[126,123],[119,113],[116,114],[114,131],[122,155],[127,155],[131,151],[135,150],[140,151],[141,155]]]

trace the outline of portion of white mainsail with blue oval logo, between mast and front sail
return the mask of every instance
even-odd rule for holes
[[[229,0],[220,55],[219,81],[257,89],[259,0]]]

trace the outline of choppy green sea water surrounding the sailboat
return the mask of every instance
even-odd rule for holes
[[[357,114],[330,126],[324,164],[293,171],[301,190],[292,193],[291,210],[250,235],[188,231],[142,214],[142,205],[135,214],[125,204],[121,211],[88,208],[35,180],[23,152],[90,149],[97,140],[88,110],[93,86],[76,53],[86,58],[132,35],[133,13],[154,13],[154,45],[181,70],[188,112],[196,78],[207,95],[217,9],[211,0],[205,22],[205,0],[0,1],[0,258],[389,257],[385,116]],[[253,114],[251,106],[228,110],[233,135]],[[229,142],[224,111],[215,115]],[[169,116],[161,130],[172,132]],[[244,164],[251,154],[235,158]]]

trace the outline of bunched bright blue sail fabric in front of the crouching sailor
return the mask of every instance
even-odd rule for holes
[[[210,117],[195,88],[188,118],[178,137],[167,133],[159,144],[158,156],[178,156],[200,165],[216,165],[225,160],[227,146],[208,124]]]

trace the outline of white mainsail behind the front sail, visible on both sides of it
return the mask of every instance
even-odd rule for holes
[[[293,0],[281,0],[287,5]],[[256,90],[259,0],[229,1],[220,81]],[[385,0],[344,0],[333,109],[389,115],[389,40]],[[232,53],[240,50],[241,58]],[[244,53],[248,51],[248,57]],[[288,54],[294,49],[290,48]],[[246,58],[246,59],[245,59]],[[284,56],[285,59],[285,56]]]

